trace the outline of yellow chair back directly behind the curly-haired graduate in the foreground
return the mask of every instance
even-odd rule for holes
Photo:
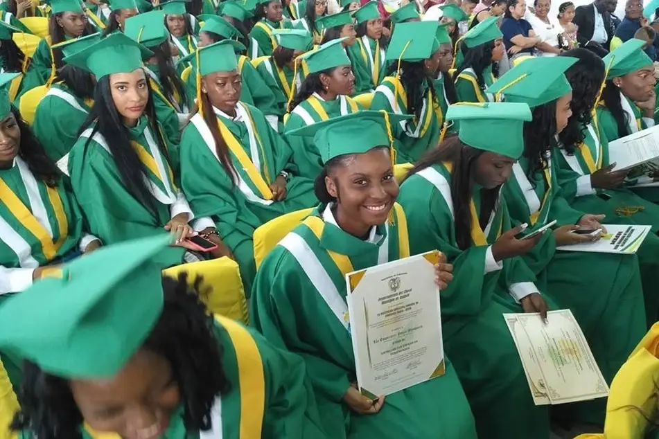
[[[202,276],[202,301],[210,312],[249,323],[243,280],[235,261],[229,258],[204,260],[177,265],[163,271],[165,276],[172,278],[176,278],[180,273],[188,274],[190,285],[193,285],[197,276]]]

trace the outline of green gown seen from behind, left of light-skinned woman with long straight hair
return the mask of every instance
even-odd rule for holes
[[[64,82],[53,84],[39,102],[32,129],[53,161],[69,154],[89,109],[87,102],[73,94]],[[63,169],[67,170],[65,164]]]

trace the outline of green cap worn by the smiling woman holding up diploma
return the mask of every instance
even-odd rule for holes
[[[385,114],[392,125],[412,116],[384,111],[361,110],[286,132],[292,136],[313,136],[323,163],[344,154],[363,154],[374,147],[389,147]]]

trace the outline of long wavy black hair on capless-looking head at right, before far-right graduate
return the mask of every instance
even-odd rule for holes
[[[579,60],[565,71],[565,78],[568,78],[572,86],[572,102],[570,102],[572,116],[568,119],[568,125],[559,134],[563,149],[568,154],[572,154],[575,147],[581,145],[586,138],[583,127],[592,120],[592,109],[601,83],[604,81],[604,62],[585,48],[574,48],[559,56],[569,56]]]

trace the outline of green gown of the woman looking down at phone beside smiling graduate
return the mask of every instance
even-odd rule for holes
[[[535,276],[521,258],[499,263],[492,258],[491,245],[511,225],[502,196],[488,224],[480,225],[479,187],[472,190],[472,245],[459,248],[450,181],[445,165],[432,165],[405,180],[398,196],[407,214],[411,253],[439,249],[453,265],[453,280],[441,291],[445,352],[464,386],[479,438],[547,438],[547,406],[534,405],[502,316],[522,312],[513,298],[525,296]]]

